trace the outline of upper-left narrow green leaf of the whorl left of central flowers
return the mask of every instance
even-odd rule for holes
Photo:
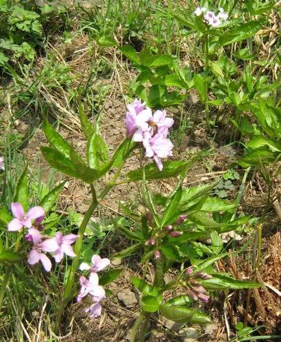
[[[71,146],[66,140],[60,135],[47,119],[44,120],[43,129],[47,140],[53,148],[58,150],[64,157],[70,158]]]

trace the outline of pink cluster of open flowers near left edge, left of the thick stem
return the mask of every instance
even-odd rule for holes
[[[51,261],[45,252],[53,253],[56,263],[62,261],[64,254],[69,257],[75,257],[72,244],[77,239],[75,234],[62,235],[56,233],[56,237],[45,237],[38,229],[42,228],[41,222],[45,217],[45,211],[42,207],[33,207],[27,211],[23,210],[21,203],[13,202],[11,211],[14,219],[8,223],[8,231],[20,231],[22,228],[28,228],[25,239],[32,242],[32,249],[27,255],[27,263],[34,265],[39,261],[47,272],[51,270]]]

